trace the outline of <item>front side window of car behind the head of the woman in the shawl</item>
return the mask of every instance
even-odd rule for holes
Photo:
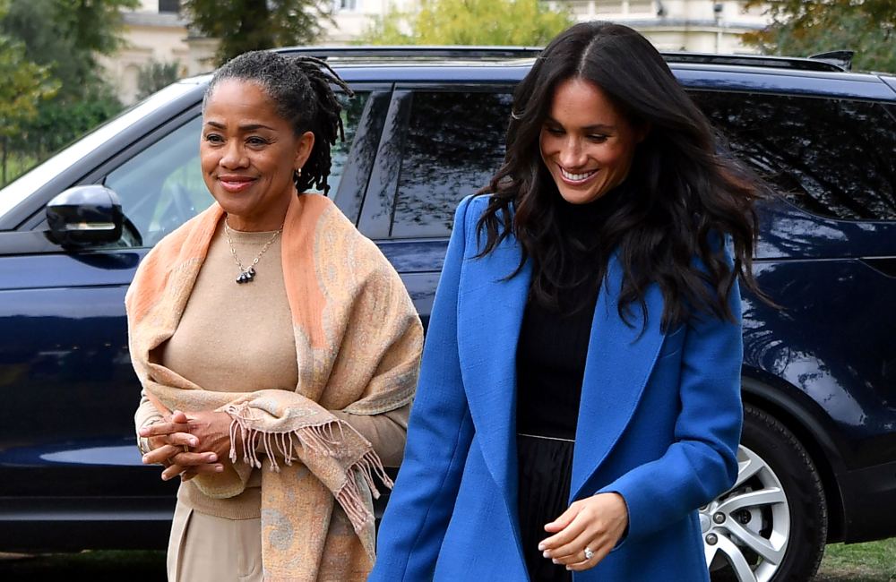
[[[339,185],[367,95],[340,94],[346,141],[332,148],[331,192]],[[126,218],[116,246],[152,246],[211,205],[199,165],[201,131],[202,118],[196,116],[106,176],[104,184],[118,194]]]

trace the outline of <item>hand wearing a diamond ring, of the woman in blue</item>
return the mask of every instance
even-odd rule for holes
[[[618,493],[599,493],[574,501],[545,526],[554,533],[538,550],[556,564],[581,572],[593,568],[612,550],[628,526],[628,508]]]

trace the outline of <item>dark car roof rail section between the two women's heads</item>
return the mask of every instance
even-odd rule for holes
[[[436,46],[353,46],[284,47],[278,52],[318,58],[531,58],[542,47],[436,47]]]

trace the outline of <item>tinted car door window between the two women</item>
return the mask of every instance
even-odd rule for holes
[[[451,233],[458,202],[487,185],[504,161],[512,103],[510,93],[414,93],[393,238]]]

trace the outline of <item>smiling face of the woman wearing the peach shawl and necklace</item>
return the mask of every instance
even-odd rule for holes
[[[202,177],[237,230],[276,230],[283,224],[293,172],[314,145],[296,136],[257,83],[229,79],[213,90],[202,113]]]

